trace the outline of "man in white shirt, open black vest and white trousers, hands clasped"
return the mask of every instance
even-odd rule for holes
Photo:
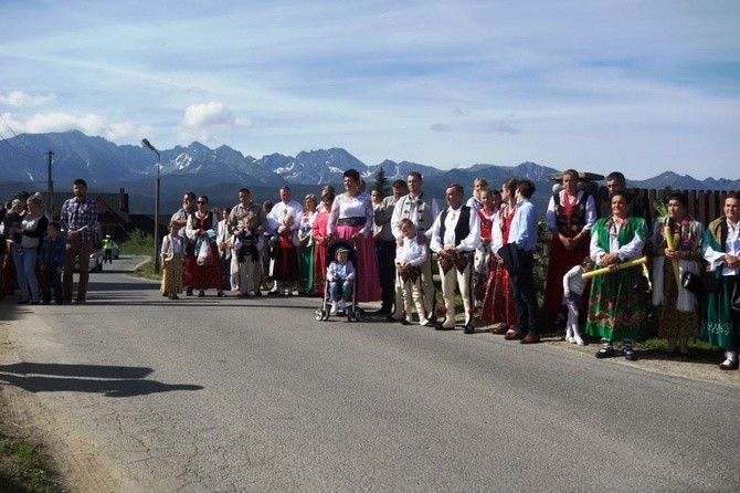
[[[453,183],[445,190],[447,209],[434,220],[431,230],[432,251],[438,256],[445,319],[437,329],[455,328],[455,287],[459,289],[465,307],[465,334],[475,333],[473,314],[473,255],[480,242],[478,214],[463,206],[463,186]]]

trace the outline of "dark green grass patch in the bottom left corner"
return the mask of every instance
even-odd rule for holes
[[[61,493],[50,479],[39,448],[0,431],[0,491],[3,493]]]

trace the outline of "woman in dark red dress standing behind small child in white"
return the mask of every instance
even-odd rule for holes
[[[552,233],[548,258],[545,312],[551,316],[563,313],[562,277],[571,268],[579,265],[589,252],[589,230],[596,221],[596,202],[593,196],[578,189],[578,171],[567,169],[562,174],[562,190],[550,198],[545,214]],[[581,298],[585,310],[588,287]]]

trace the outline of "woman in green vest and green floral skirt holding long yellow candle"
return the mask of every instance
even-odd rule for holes
[[[609,268],[611,272],[592,279],[585,332],[601,337],[598,358],[614,356],[614,339],[623,339],[624,357],[635,360],[633,342],[647,329],[644,277],[641,269],[620,269],[619,264],[642,256],[647,225],[643,218],[630,217],[625,192],[615,191],[611,203],[612,214],[598,220],[591,231],[594,269]]]

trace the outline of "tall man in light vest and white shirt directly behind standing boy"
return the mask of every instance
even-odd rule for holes
[[[395,238],[398,244],[402,244],[403,234],[399,228],[399,221],[404,218],[411,219],[411,222],[413,222],[414,227],[416,228],[416,239],[419,242],[426,242],[426,244],[429,244],[432,223],[440,214],[440,206],[433,197],[424,193],[422,190],[424,181],[422,180],[420,172],[410,172],[409,177],[406,178],[406,185],[409,186],[409,195],[401,197],[395,203],[395,208],[393,209],[393,217],[391,218],[391,231],[393,232],[393,237]],[[421,265],[422,291],[424,292],[424,308],[426,310],[427,318],[434,321],[436,317],[434,316],[432,255],[429,254],[426,256],[426,262]],[[403,319],[401,307],[397,306],[395,312],[392,315],[389,315],[389,322],[401,319]]]

